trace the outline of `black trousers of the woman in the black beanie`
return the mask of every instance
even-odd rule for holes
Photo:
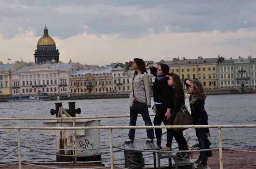
[[[157,108],[157,112],[154,118],[154,126],[160,126],[162,122],[163,124],[167,125],[168,121],[167,121],[167,117],[165,117],[167,108],[162,106],[162,104],[156,105],[156,108]],[[156,133],[156,142],[158,145],[161,145],[162,129],[155,129],[155,133]],[[172,146],[172,139],[173,139],[173,135],[170,129],[167,129],[167,143],[166,143],[167,147]]]

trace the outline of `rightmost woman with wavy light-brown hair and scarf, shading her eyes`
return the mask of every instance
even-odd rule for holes
[[[184,84],[188,87],[189,105],[191,110],[191,115],[193,117],[194,125],[208,125],[208,115],[204,110],[204,100],[206,98],[205,92],[203,90],[203,85],[199,81],[189,81],[184,79]],[[196,128],[196,135],[198,138],[200,149],[210,148],[210,141],[208,136],[210,135],[209,128]],[[210,154],[210,155],[209,155]],[[207,168],[208,156],[212,156],[211,151],[200,151],[199,158],[195,163],[200,163],[195,168]]]

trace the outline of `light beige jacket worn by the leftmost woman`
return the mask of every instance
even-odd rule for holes
[[[124,68],[124,74],[132,79],[134,73],[129,72],[129,67],[129,64],[126,63]],[[133,90],[134,96],[139,102],[151,105],[151,86],[150,79],[147,73],[135,75],[133,80]],[[132,106],[133,99],[134,97],[131,91],[129,97],[129,106]]]

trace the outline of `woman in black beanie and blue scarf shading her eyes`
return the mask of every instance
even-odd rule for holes
[[[154,96],[154,106],[157,108],[157,112],[154,118],[154,125],[160,126],[161,123],[167,125],[171,116],[170,102],[171,102],[171,90],[168,86],[165,77],[169,73],[169,66],[167,64],[153,64],[150,66],[150,72],[156,77],[152,86]],[[155,129],[157,144],[161,148],[162,129]],[[170,135],[170,129],[167,129],[167,143],[163,150],[170,150],[172,145],[172,137]]]

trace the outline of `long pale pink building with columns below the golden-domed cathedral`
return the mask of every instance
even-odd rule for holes
[[[81,67],[80,63],[28,64],[11,73],[11,94],[68,94],[70,75]]]

